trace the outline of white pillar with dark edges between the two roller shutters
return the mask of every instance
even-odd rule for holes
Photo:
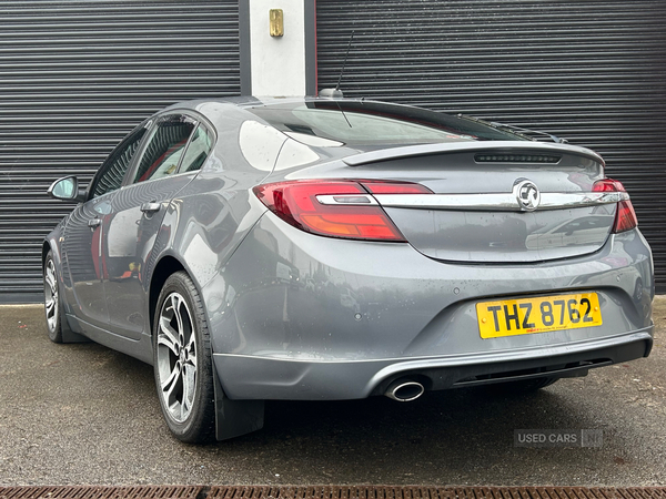
[[[241,93],[316,93],[315,0],[240,0]],[[271,37],[270,11],[282,9],[284,34]]]

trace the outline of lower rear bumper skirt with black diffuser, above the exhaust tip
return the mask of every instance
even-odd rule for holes
[[[584,376],[594,367],[647,357],[653,329],[548,348],[450,357],[317,361],[214,354],[213,360],[230,398],[343,400],[381,395],[402,377],[441,390],[543,376]]]

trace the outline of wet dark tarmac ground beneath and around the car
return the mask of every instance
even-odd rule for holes
[[[0,306],[0,487],[663,486],[666,296],[654,319],[648,358],[536,394],[269,401],[261,431],[191,446],[163,422],[151,366],[94,343],[56,345],[41,306]],[[517,447],[516,429],[596,440]]]

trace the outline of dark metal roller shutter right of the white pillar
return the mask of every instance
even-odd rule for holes
[[[666,292],[666,2],[317,0],[319,88],[544,130],[604,155]]]

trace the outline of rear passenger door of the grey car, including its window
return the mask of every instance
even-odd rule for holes
[[[210,129],[199,121],[174,112],[157,120],[104,218],[104,288],[110,327],[119,335],[139,339],[143,332],[150,333],[147,275],[152,249],[158,237],[170,236],[169,228],[162,227],[169,203],[192,181],[210,152],[210,147],[202,150],[204,139],[212,145]]]

